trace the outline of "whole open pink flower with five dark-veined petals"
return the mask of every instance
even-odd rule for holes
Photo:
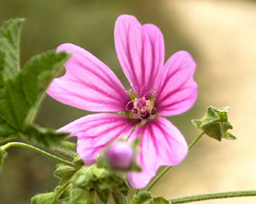
[[[56,78],[48,94],[63,104],[86,111],[99,111],[61,127],[78,137],[78,153],[85,162],[120,134],[129,140],[142,137],[138,163],[140,173],[127,173],[134,188],[145,187],[162,166],[177,165],[187,155],[182,133],[163,116],[188,111],[197,98],[193,76],[195,62],[186,51],[173,54],[164,64],[165,45],[160,29],[141,25],[131,15],[120,15],[114,28],[114,42],[120,65],[131,83],[126,91],[107,65],[73,44],[61,44],[57,51],[72,54],[66,74]],[[121,112],[114,114],[108,112]]]

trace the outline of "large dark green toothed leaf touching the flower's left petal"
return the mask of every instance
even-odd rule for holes
[[[49,82],[67,58],[67,54],[56,54],[55,51],[39,54],[30,59],[15,78],[5,82],[0,89],[0,106],[3,107],[0,109],[0,133],[6,136],[20,132],[23,139],[46,147],[67,136],[67,133],[55,133],[54,130],[32,125]]]

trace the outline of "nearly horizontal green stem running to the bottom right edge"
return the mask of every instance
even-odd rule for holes
[[[245,196],[256,196],[256,190],[242,190],[242,191],[230,191],[212,194],[201,194],[186,197],[177,197],[170,199],[172,204],[193,202],[193,201],[206,201],[213,199],[232,198],[232,197],[245,197]]]

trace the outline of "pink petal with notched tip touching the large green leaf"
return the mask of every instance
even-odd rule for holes
[[[66,74],[56,78],[47,90],[52,98],[86,111],[125,110],[129,96],[107,65],[73,44],[62,44],[57,51],[72,57],[65,64]]]

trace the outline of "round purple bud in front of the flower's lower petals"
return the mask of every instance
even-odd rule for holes
[[[108,163],[115,170],[130,170],[134,160],[134,150],[128,142],[116,141],[107,152]]]

